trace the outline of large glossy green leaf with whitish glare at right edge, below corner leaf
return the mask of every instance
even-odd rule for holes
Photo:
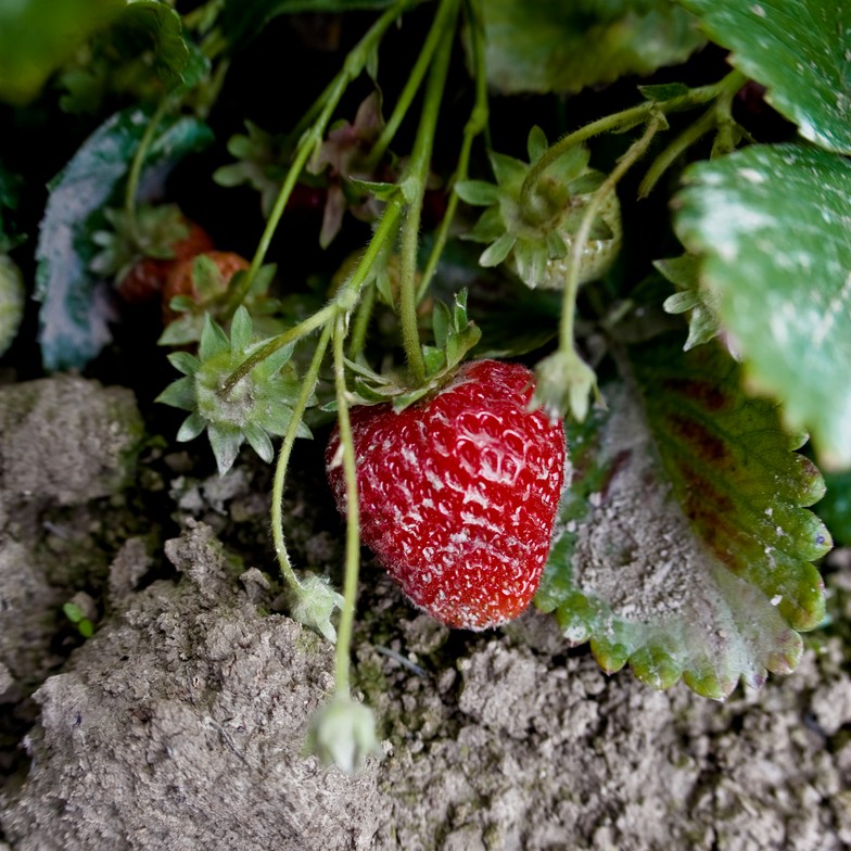
[[[677,234],[745,360],[826,466],[851,466],[851,162],[752,145],[685,173]]]

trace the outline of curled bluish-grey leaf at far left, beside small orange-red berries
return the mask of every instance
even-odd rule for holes
[[[49,185],[36,249],[36,299],[45,368],[80,369],[110,342],[107,291],[89,269],[103,230],[103,209],[124,185],[148,126],[145,111],[131,107],[102,124]],[[140,183],[140,200],[162,191],[174,165],[212,141],[209,128],[193,118],[161,122]]]

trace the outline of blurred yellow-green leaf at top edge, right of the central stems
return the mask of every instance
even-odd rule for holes
[[[488,82],[506,94],[574,92],[683,62],[701,38],[670,0],[486,0]]]

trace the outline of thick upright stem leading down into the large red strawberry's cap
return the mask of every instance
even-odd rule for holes
[[[457,15],[458,0],[442,0],[437,16],[444,27],[443,40],[434,54],[434,62],[429,72],[417,138],[414,141],[410,161],[401,180],[402,192],[406,201],[406,215],[402,225],[399,250],[399,318],[408,368],[416,386],[426,383],[426,361],[420,348],[417,322],[416,277],[420,217],[422,200],[426,195],[426,182],[429,179],[434,136],[437,130],[437,116],[452,59],[454,39],[449,34],[455,31]]]

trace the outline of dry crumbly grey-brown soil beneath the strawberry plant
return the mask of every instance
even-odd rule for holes
[[[332,648],[281,610],[267,470],[199,477],[78,378],[0,386],[0,433],[2,851],[851,847],[847,550],[798,670],[725,703],[607,676],[535,611],[450,632],[367,562],[355,675],[384,758],[350,777],[304,755]],[[339,582],[319,449],[287,532]]]

